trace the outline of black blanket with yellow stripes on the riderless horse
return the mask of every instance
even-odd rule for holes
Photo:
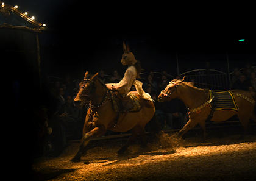
[[[216,110],[233,110],[238,112],[238,106],[235,97],[231,91],[218,92]],[[208,100],[213,98],[212,91],[210,90]],[[210,104],[212,109],[212,104]]]

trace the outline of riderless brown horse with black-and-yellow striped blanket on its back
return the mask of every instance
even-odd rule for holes
[[[238,119],[243,125],[245,133],[249,125],[249,119],[252,118],[256,122],[255,113],[253,112],[255,97],[247,91],[230,90],[214,93],[208,89],[193,87],[193,85],[183,82],[183,80],[174,79],[160,93],[158,101],[170,101],[176,97],[180,98],[190,110],[190,120],[180,130],[178,137],[182,137],[184,133],[199,123],[201,129],[204,131],[205,139],[205,120],[211,113],[213,115],[208,120],[216,122],[226,121],[233,115],[238,115]],[[212,112],[213,109],[215,112]]]

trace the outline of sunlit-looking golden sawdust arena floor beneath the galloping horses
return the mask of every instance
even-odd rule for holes
[[[79,143],[70,143],[57,158],[39,158],[32,180],[256,180],[256,135],[228,135],[177,140],[162,135],[160,141],[141,149],[133,144],[126,154],[116,152],[122,143],[104,141],[82,157],[71,158]]]

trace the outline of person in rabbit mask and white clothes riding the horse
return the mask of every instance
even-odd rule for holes
[[[132,52],[130,52],[129,44],[124,44],[123,42],[123,51],[124,54],[122,55],[121,63],[129,67],[126,73],[124,73],[124,78],[119,83],[108,83],[106,84],[107,88],[118,91],[124,98],[130,91],[130,87],[135,85],[138,94],[140,94],[143,99],[152,101],[151,96],[143,91],[142,82],[136,80],[136,78],[140,76],[142,68],[140,62],[137,62]]]

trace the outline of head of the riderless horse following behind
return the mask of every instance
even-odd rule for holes
[[[176,98],[178,94],[177,87],[183,82],[183,80],[184,78],[182,80],[174,79],[169,82],[169,85],[167,85],[165,90],[162,90],[159,94],[158,102],[171,101],[171,99]]]

